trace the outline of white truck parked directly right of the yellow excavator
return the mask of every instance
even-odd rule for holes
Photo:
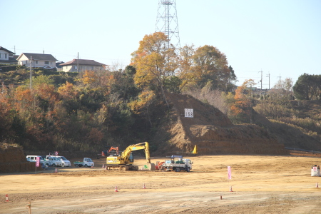
[[[186,171],[192,169],[193,162],[190,159],[185,159],[183,156],[170,156],[170,160],[165,160],[165,163],[158,166],[160,170],[175,170],[175,172]]]

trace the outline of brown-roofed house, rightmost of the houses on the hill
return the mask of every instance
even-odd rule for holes
[[[80,71],[102,71],[106,69],[106,65],[98,63],[91,59],[73,59],[66,63],[60,64],[61,71],[65,72],[80,72]]]

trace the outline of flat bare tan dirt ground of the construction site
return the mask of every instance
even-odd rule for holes
[[[29,213],[29,202],[32,213],[321,213],[321,177],[311,177],[320,154],[189,158],[190,173],[106,171],[101,158],[94,168],[0,174],[0,213]]]

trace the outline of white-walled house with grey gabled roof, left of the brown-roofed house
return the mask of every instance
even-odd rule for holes
[[[52,69],[56,68],[56,58],[51,54],[31,54],[31,53],[22,53],[17,58],[19,65],[21,66],[30,66],[33,68],[46,68]]]

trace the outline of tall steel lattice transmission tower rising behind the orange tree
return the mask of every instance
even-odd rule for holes
[[[180,49],[180,34],[178,31],[178,19],[175,0],[158,0],[158,10],[156,18],[156,32],[163,32],[168,36],[168,43],[173,44],[176,50]]]

